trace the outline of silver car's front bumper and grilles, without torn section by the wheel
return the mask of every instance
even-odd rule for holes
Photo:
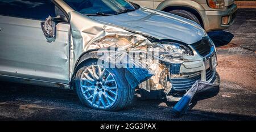
[[[212,44],[209,37],[205,37],[203,40],[189,45],[195,55],[185,58],[185,62],[180,66],[171,66],[169,77],[172,94],[182,95],[197,80],[219,85],[220,78],[216,71],[216,50]]]

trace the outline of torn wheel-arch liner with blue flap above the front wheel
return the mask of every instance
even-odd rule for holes
[[[117,55],[118,57],[116,57]],[[129,67],[123,69],[123,73],[125,74],[126,80],[130,84],[131,88],[137,87],[139,83],[149,79],[152,75],[154,75],[151,73],[146,65],[142,65],[142,63],[139,63],[139,61],[135,60],[136,58],[130,57],[128,62],[126,59],[127,56],[129,55],[125,51],[115,52],[112,54],[110,50],[99,49],[84,54],[79,59],[78,63],[80,64],[81,62],[84,62],[85,60],[88,60],[90,58],[97,58],[98,63],[100,63],[102,66],[109,68],[124,67],[129,65]],[[118,61],[122,63],[116,63]]]

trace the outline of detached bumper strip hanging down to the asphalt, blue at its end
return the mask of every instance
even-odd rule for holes
[[[218,89],[218,85],[203,82],[201,80],[196,81],[195,84],[185,93],[185,95],[180,99],[180,101],[172,108],[172,112],[175,116],[181,116],[187,113],[189,104],[191,103],[193,97],[196,93],[208,91],[208,90],[215,90]]]

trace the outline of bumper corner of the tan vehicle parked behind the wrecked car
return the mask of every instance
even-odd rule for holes
[[[205,18],[208,23],[204,23],[205,31],[221,30],[230,27],[234,23],[237,14],[237,5],[233,4],[226,10],[205,11]],[[228,24],[222,23],[222,17],[228,17]]]

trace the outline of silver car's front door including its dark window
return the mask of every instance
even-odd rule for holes
[[[56,38],[47,41],[41,22],[54,17],[51,1],[0,2],[0,75],[47,82],[69,82],[68,23],[56,24]]]

